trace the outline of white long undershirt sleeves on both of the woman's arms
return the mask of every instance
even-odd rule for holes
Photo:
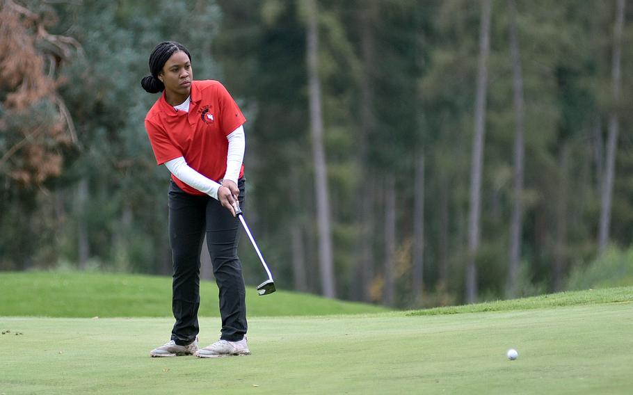
[[[237,129],[232,131],[232,133],[227,136],[227,140],[229,140],[229,148],[224,179],[230,179],[237,184],[239,170],[242,167],[244,150],[246,148],[243,126],[240,125]],[[211,198],[218,199],[218,189],[221,187],[221,184],[201,175],[198,171],[191,168],[183,156],[165,162],[165,166],[180,181],[202,193],[206,193],[211,196]]]

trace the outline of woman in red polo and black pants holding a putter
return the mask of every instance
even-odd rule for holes
[[[191,55],[178,42],[161,42],[154,48],[150,72],[141,85],[147,92],[163,94],[147,113],[145,129],[157,163],[164,163],[172,173],[168,228],[176,319],[171,340],[150,355],[248,355],[246,292],[234,210],[244,202],[246,118],[221,83],[193,80]],[[198,349],[200,251],[205,234],[220,289],[222,330],[219,341]]]

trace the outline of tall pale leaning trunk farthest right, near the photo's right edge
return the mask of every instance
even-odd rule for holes
[[[611,65],[614,104],[620,102],[622,57],[621,42],[624,25],[624,0],[617,0],[616,24],[614,26],[614,57]],[[609,225],[611,223],[611,202],[613,200],[616,155],[618,153],[618,131],[620,122],[618,110],[614,109],[609,117],[609,137],[607,138],[607,168],[605,169],[600,204],[600,231],[598,232],[598,253],[602,255],[609,243]]]

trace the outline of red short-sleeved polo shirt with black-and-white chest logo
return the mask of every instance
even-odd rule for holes
[[[191,168],[217,182],[226,172],[227,136],[244,122],[246,118],[226,88],[207,80],[191,83],[189,113],[170,106],[163,92],[145,117],[145,129],[159,165],[184,156]],[[239,177],[243,174],[242,165]],[[204,195],[171,177],[183,191]]]

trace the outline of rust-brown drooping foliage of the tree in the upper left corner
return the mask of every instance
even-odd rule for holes
[[[54,10],[29,10],[12,0],[0,8],[0,92],[8,138],[0,156],[4,177],[22,187],[61,173],[65,147],[77,143],[70,113],[58,95],[58,67],[81,54],[74,38],[54,35]]]

